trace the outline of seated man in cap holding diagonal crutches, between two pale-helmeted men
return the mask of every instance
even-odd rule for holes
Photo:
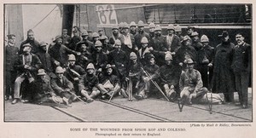
[[[149,54],[147,56],[147,64],[143,67],[143,70],[145,72],[143,72],[142,78],[145,86],[144,86],[144,89],[138,95],[134,95],[137,98],[137,100],[142,100],[142,99],[148,98],[150,94],[152,95],[152,91],[154,87],[152,87],[153,83],[150,82],[150,80],[156,81],[156,79],[158,78],[158,75],[155,72],[159,70],[159,66],[155,64],[154,55]],[[146,74],[146,72],[148,74]]]

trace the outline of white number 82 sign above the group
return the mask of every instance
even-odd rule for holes
[[[113,4],[96,6],[100,24],[118,24]]]

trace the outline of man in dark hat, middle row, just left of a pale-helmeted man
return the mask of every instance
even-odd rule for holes
[[[80,43],[78,43],[78,47],[81,48],[80,49],[81,55],[78,56],[77,61],[78,61],[79,66],[82,66],[85,69],[86,66],[90,62],[92,62],[91,53],[88,51],[85,41],[81,41]]]

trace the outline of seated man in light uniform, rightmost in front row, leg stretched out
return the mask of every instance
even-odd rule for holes
[[[183,103],[206,103],[208,101],[222,103],[224,101],[224,97],[218,94],[207,94],[208,89],[203,87],[201,73],[194,69],[195,62],[192,59],[185,60],[184,64],[187,65],[187,70],[182,72],[179,80],[180,96]]]

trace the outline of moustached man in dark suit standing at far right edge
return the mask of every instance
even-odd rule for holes
[[[235,73],[236,90],[242,108],[248,106],[248,83],[251,72],[251,45],[244,42],[241,33],[236,34],[237,45],[234,48],[232,69]]]

